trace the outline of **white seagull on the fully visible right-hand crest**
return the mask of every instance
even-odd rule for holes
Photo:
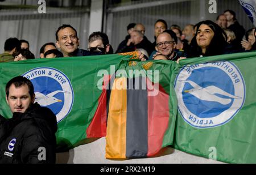
[[[208,86],[203,88],[191,80],[180,80],[180,82],[189,83],[193,88],[185,90],[184,92],[190,93],[191,95],[197,97],[200,100],[214,101],[222,105],[228,105],[231,103],[232,99],[242,99],[242,97],[232,95],[216,86]],[[220,96],[217,96],[217,94],[226,96],[228,98],[222,98]]]

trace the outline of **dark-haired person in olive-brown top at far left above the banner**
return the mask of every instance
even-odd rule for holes
[[[10,38],[5,41],[5,52],[0,54],[1,62],[11,62],[14,61],[13,53],[20,49],[20,42],[16,38]]]

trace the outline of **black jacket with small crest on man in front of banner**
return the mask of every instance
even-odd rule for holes
[[[56,131],[55,114],[38,103],[10,119],[0,115],[0,164],[54,164]]]

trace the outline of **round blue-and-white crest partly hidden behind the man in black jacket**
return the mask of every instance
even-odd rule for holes
[[[74,93],[71,82],[63,72],[52,67],[38,67],[22,76],[33,83],[35,102],[51,109],[57,117],[57,122],[71,112]]]

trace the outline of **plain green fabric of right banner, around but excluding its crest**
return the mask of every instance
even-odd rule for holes
[[[256,163],[256,52],[184,59],[180,61],[180,65],[195,65],[221,60],[232,62],[241,72],[246,87],[242,109],[224,125],[210,128],[197,128],[189,125],[179,112],[176,119],[174,147],[207,158],[211,157],[210,153],[214,147],[217,160],[228,163]],[[201,76],[208,75],[202,74]]]

